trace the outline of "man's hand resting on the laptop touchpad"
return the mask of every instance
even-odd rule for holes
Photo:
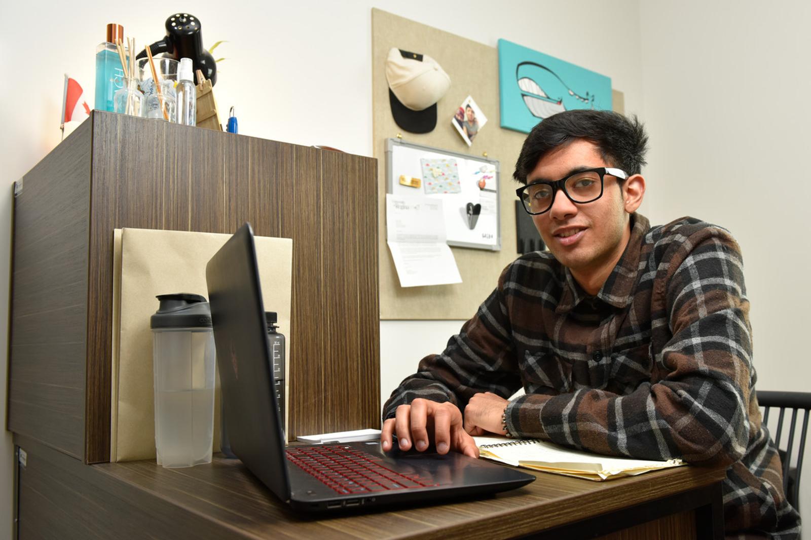
[[[423,452],[433,439],[436,452],[447,454],[449,450],[470,457],[478,457],[478,448],[473,437],[465,431],[461,411],[453,403],[437,403],[417,398],[411,405],[400,405],[394,418],[383,422],[380,444],[384,451],[392,448],[392,434],[397,435],[400,449],[414,448]]]

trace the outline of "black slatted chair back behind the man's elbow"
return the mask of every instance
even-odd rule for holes
[[[783,492],[786,494],[788,502],[794,508],[799,510],[797,503],[800,499],[800,473],[803,468],[803,454],[805,452],[805,434],[808,432],[809,427],[809,409],[811,409],[811,392],[770,392],[770,391],[757,391],[757,403],[764,408],[763,424],[768,426],[770,409],[777,409],[779,411],[779,418],[777,419],[776,429],[769,428],[772,434],[772,439],[775,441],[777,448],[780,452],[780,459],[783,461]],[[786,411],[792,412],[791,422],[788,424],[788,440],[785,445],[781,444],[783,436],[783,420]],[[805,411],[803,414],[802,429],[800,436],[796,437],[796,426],[798,421],[798,413],[800,410]],[[796,458],[794,457],[794,444],[795,440],[799,439],[800,447],[797,449]]]

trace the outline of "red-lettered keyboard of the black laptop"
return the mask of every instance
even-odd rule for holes
[[[288,448],[287,459],[341,494],[374,493],[434,486],[418,474],[405,476],[381,465],[382,460],[340,444]]]

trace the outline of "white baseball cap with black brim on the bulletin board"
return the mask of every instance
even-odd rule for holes
[[[393,48],[386,58],[388,101],[394,122],[411,133],[436,127],[436,102],[451,85],[451,78],[427,54]]]

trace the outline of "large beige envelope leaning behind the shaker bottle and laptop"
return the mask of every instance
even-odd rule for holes
[[[155,458],[152,331],[158,294],[194,293],[208,298],[205,265],[230,234],[116,229],[113,278],[113,365],[110,461]],[[293,240],[256,237],[264,308],[278,314],[288,338]],[[285,362],[285,385],[290,362]],[[289,392],[285,389],[285,396]],[[288,407],[285,404],[285,411]],[[220,447],[220,391],[214,405],[214,451]],[[286,425],[286,418],[285,418]]]

